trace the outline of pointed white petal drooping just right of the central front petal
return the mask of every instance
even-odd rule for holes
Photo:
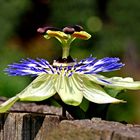
[[[99,85],[83,78],[83,94],[86,99],[98,104],[124,102],[109,96]]]

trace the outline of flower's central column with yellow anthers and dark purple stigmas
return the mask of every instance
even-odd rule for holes
[[[61,65],[73,65],[73,61],[69,62],[69,51],[71,43],[76,39],[87,40],[91,35],[83,30],[80,25],[66,26],[63,29],[55,27],[43,27],[38,28],[39,33],[43,34],[46,39],[55,37],[62,44],[62,64]],[[68,61],[68,62],[67,62]],[[65,64],[64,64],[65,63]],[[59,61],[54,61],[54,65],[59,65]]]

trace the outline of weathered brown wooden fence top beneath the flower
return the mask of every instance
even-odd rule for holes
[[[0,140],[140,140],[140,125],[62,120],[60,108],[34,103],[16,103],[11,111],[0,114]]]

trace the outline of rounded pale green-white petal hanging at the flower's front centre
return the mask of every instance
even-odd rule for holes
[[[82,80],[76,74],[71,77],[57,75],[55,89],[66,104],[78,106],[82,102]]]

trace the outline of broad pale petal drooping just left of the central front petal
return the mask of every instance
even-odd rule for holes
[[[41,101],[53,96],[56,91],[53,85],[54,76],[42,74],[38,76],[19,95],[21,101]]]

